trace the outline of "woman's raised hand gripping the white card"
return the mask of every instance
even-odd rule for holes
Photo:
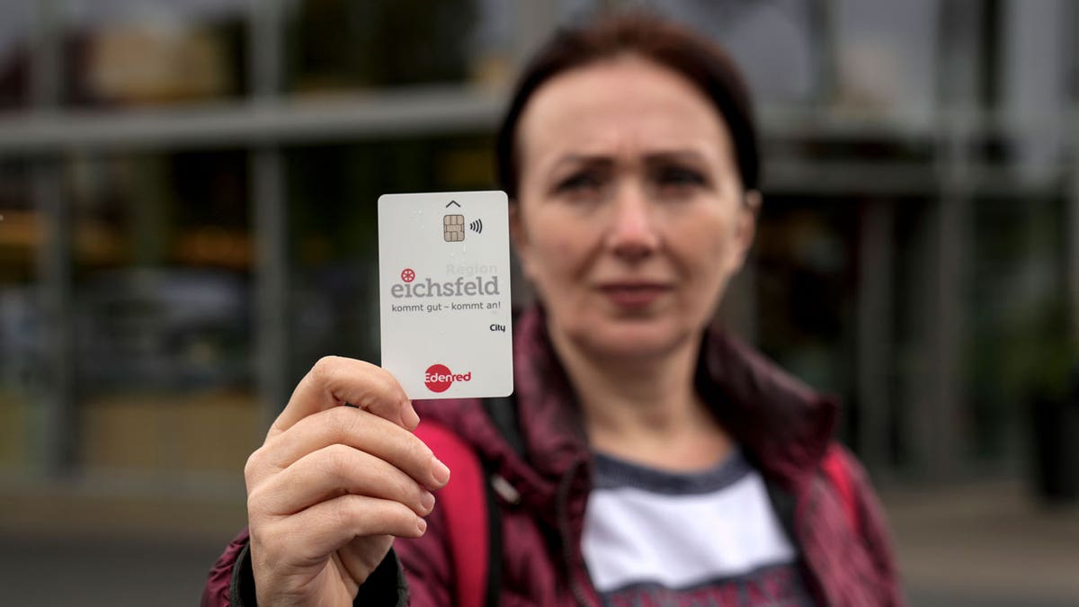
[[[384,369],[315,364],[244,469],[259,605],[352,605],[394,536],[423,535],[450,472],[419,422]]]

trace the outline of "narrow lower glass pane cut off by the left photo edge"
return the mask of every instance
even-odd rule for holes
[[[40,407],[41,319],[37,257],[41,217],[30,195],[29,164],[0,162],[0,469],[25,469],[35,459]]]

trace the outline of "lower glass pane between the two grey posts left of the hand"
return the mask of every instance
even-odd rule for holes
[[[76,157],[81,463],[235,474],[257,446],[247,154]]]

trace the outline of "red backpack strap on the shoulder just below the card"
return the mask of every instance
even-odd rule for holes
[[[457,607],[483,607],[487,598],[488,512],[487,481],[476,453],[456,434],[437,422],[424,421],[415,435],[452,471],[438,490],[453,558]]]

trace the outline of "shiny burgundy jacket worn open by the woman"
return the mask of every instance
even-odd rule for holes
[[[581,549],[592,458],[573,391],[547,339],[542,312],[527,313],[516,331],[515,394],[523,457],[479,401],[416,402],[416,409],[425,421],[446,426],[472,445],[520,496],[500,504],[501,604],[601,605]],[[817,602],[902,605],[888,532],[864,471],[841,450],[857,502],[852,522],[837,488],[820,470],[827,450],[842,449],[832,441],[836,403],[715,328],[701,348],[697,389],[764,476]],[[246,547],[244,531],[218,559],[204,606],[255,604]],[[453,580],[445,520],[436,507],[424,537],[398,539],[355,604],[451,605]]]

